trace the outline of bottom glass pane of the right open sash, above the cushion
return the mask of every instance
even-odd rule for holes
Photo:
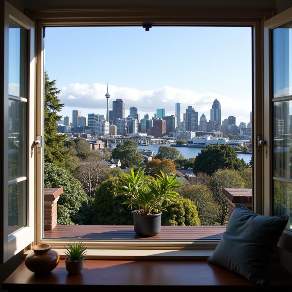
[[[273,215],[288,215],[286,229],[292,231],[292,184],[274,180]]]

